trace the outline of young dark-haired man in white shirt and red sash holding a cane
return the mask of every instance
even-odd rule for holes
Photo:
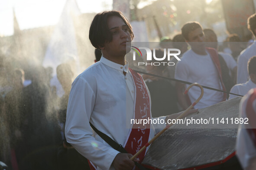
[[[108,11],[97,14],[91,23],[89,38],[93,46],[101,50],[102,57],[72,84],[66,139],[96,169],[132,170],[134,162],[130,157],[154,137],[155,130],[165,126],[146,124],[138,127],[131,123],[131,119],[154,119],[151,118],[146,83],[125,62],[133,37],[130,23],[122,13]],[[178,115],[162,116],[159,120],[173,119]],[[122,145],[128,153],[112,148],[99,131],[112,143]],[[135,161],[143,161],[145,154],[146,150]]]

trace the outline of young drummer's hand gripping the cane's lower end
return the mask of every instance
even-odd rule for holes
[[[135,164],[132,160],[130,160],[131,157],[133,157],[132,154],[125,154],[125,153],[117,154],[117,156],[113,161],[113,166],[115,170],[132,170]],[[134,161],[139,161],[139,160],[135,159]]]

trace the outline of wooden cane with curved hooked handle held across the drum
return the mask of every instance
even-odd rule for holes
[[[188,88],[185,90],[184,94],[188,93],[188,90],[192,87],[192,86],[198,86],[201,88],[201,94],[199,96],[199,98],[193,103],[191,104],[183,113],[181,113],[178,117],[176,117],[175,120],[177,119],[181,119],[183,118],[184,115],[186,115],[186,113],[188,113],[189,110],[191,110],[194,105],[196,105],[198,103],[198,101],[200,101],[200,99],[203,97],[204,95],[204,89],[201,85],[199,85],[198,83],[193,83],[191,85],[188,86]],[[158,134],[156,134],[148,143],[146,143],[136,154],[133,155],[133,157],[130,158],[130,160],[133,160],[134,158],[136,158],[142,151],[144,151],[152,142],[154,142],[160,135],[162,135],[163,132],[165,132],[165,130],[167,130],[169,127],[171,127],[173,124],[170,123],[168,125],[165,126],[165,129],[162,129],[161,132],[159,132]]]

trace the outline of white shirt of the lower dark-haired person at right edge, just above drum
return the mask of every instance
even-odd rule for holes
[[[252,80],[250,79],[246,83],[234,85],[231,88],[230,93],[240,94],[240,95],[244,96],[252,88],[256,88],[256,84],[253,83]],[[235,98],[235,97],[237,97],[237,96],[233,95],[233,94],[230,94],[228,99],[232,99],[232,98]]]

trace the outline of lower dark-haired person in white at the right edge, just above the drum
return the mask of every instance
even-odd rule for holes
[[[234,85],[231,88],[230,93],[245,95],[250,89],[256,88],[256,56],[253,56],[248,61],[248,73],[250,79],[248,82],[243,84]],[[237,97],[236,95],[230,94],[229,99]]]

